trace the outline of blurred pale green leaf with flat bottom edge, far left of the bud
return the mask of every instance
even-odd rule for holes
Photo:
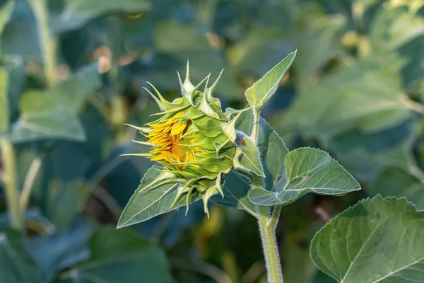
[[[20,100],[20,118],[13,123],[9,139],[15,143],[40,139],[86,139],[75,113],[58,97],[28,91]]]

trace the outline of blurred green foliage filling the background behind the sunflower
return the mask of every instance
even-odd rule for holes
[[[119,156],[146,150],[124,123],[157,110],[146,81],[179,96],[187,59],[194,82],[225,69],[216,96],[242,108],[247,86],[298,49],[262,115],[290,149],[329,151],[365,189],[283,207],[285,282],[334,282],[310,260],[312,236],[366,195],[424,207],[423,1],[49,0],[54,54],[29,2],[11,3],[0,1],[0,137],[15,148],[18,187],[41,163],[26,233],[9,228],[0,190],[1,282],[266,282],[242,210],[214,205],[206,219],[196,202],[187,216],[108,226],[151,167]]]

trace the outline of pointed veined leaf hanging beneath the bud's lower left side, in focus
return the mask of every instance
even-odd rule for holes
[[[174,204],[177,197],[177,183],[165,183],[164,185],[153,185],[157,183],[157,178],[163,171],[159,165],[152,166],[141,179],[141,184],[124,208],[118,221],[117,228],[122,228],[132,224],[151,219],[154,216],[170,212],[185,205],[184,197]],[[199,196],[194,196],[191,202],[199,200]]]

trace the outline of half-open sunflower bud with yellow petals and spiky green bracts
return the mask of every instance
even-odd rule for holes
[[[131,126],[148,139],[147,142],[136,142],[151,146],[148,154],[134,155],[146,156],[163,165],[163,173],[157,182],[179,183],[174,204],[185,195],[187,210],[194,192],[202,195],[205,213],[208,213],[211,196],[220,193],[224,197],[223,180],[230,173],[235,158],[235,120],[240,115],[230,120],[234,112],[224,114],[220,101],[213,98],[212,92],[219,79],[220,76],[212,86],[208,86],[207,76],[194,86],[189,79],[187,64],[184,83],[179,77],[182,98],[172,102],[165,100],[149,83],[156,95],[146,91],[158,103],[161,112],[154,115],[160,117],[146,127]],[[199,88],[203,83],[206,86],[201,92]]]

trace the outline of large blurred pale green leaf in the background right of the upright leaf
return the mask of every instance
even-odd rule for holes
[[[405,122],[413,115],[411,101],[400,89],[399,66],[389,62],[358,62],[327,75],[300,93],[279,117],[284,122],[278,129],[331,137],[353,127],[377,132]]]

